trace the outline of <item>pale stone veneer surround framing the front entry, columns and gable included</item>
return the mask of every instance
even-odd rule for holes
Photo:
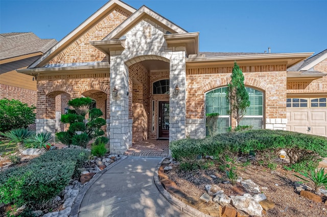
[[[166,30],[145,18],[127,32],[125,49],[110,51],[110,86],[119,90],[119,96],[110,97],[110,150],[124,153],[131,145],[131,132],[114,133],[125,125],[131,129],[129,66],[144,60],[161,60],[170,63],[170,141],[185,138],[185,48],[168,47]],[[173,96],[178,83],[180,94]],[[111,91],[112,91],[111,89]],[[126,134],[127,133],[127,134]],[[113,138],[111,137],[113,135]]]

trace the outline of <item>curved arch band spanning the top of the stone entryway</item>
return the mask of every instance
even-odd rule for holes
[[[164,51],[142,50],[132,53],[132,55],[125,56],[124,62],[127,66],[131,66],[144,60],[161,60],[169,63],[171,57],[172,55],[170,53]]]

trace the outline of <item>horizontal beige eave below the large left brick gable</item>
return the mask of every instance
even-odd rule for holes
[[[109,73],[108,62],[101,62],[98,65],[69,66],[69,67],[42,67],[19,69],[17,72],[28,75],[60,75],[60,74],[85,74],[85,73]]]

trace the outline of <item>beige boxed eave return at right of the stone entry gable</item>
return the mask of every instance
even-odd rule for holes
[[[166,34],[164,37],[168,47],[185,46],[187,55],[199,53],[199,32]]]

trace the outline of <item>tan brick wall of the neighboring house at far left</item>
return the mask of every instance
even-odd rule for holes
[[[36,106],[36,91],[8,86],[4,84],[0,84],[0,90],[0,99],[16,99],[21,101],[22,103],[28,104],[29,106]],[[35,127],[35,124],[29,125],[30,130],[35,130]]]

